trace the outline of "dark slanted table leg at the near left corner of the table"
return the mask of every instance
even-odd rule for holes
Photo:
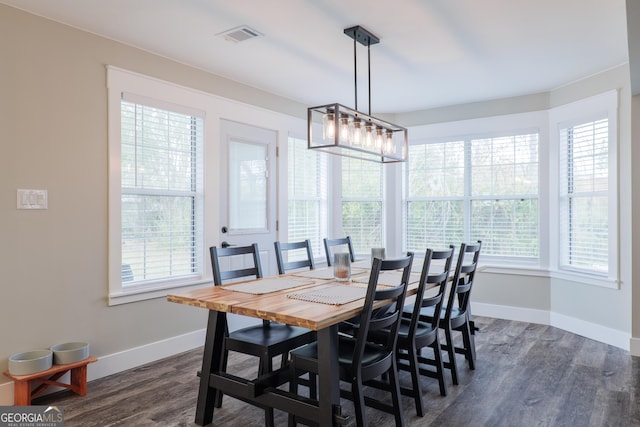
[[[196,405],[195,422],[201,426],[211,424],[213,420],[216,390],[209,386],[209,378],[212,372],[220,371],[226,325],[226,313],[214,310],[209,311],[207,336],[204,342],[204,355],[202,356],[202,370],[200,372],[198,403]]]

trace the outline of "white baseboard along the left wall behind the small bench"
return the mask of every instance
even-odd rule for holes
[[[155,362],[165,357],[183,353],[204,345],[205,329],[200,329],[162,341],[145,344],[106,356],[96,356],[98,361],[88,365],[87,381],[126,371],[127,369]],[[66,374],[60,381],[68,381]],[[61,390],[61,388],[57,388]],[[52,389],[56,391],[56,388]],[[0,384],[0,406],[13,405],[13,382]]]

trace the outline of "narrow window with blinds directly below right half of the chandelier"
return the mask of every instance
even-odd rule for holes
[[[343,234],[356,253],[368,254],[384,246],[382,164],[343,157],[341,178]]]

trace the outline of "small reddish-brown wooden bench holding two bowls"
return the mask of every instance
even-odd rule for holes
[[[14,381],[13,404],[15,406],[31,405],[31,399],[42,394],[49,386],[67,388],[74,393],[84,396],[87,394],[87,365],[97,362],[95,357],[66,365],[53,365],[46,371],[35,372],[29,375],[12,375],[8,371],[4,374]],[[69,384],[58,381],[67,372],[71,371]],[[32,390],[32,381],[41,383]]]

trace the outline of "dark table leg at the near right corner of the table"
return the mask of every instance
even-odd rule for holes
[[[340,412],[340,375],[338,370],[338,325],[318,331],[318,383],[321,426],[335,425],[334,413]]]

